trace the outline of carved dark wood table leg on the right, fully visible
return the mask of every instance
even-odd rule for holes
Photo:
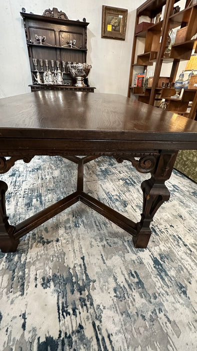
[[[146,248],[150,235],[150,222],[163,202],[169,200],[170,193],[165,181],[170,178],[177,151],[162,151],[156,167],[151,171],[151,178],[142,182],[143,210],[140,222],[136,223],[136,236],[133,243],[136,248]]]

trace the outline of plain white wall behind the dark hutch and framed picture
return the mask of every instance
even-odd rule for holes
[[[87,63],[92,65],[89,84],[96,92],[127,95],[135,9],[144,0],[1,0],[0,2],[0,97],[30,92],[31,75],[23,21],[19,12],[42,15],[56,7],[69,20],[83,17],[87,27]],[[101,39],[102,5],[128,10],[125,41]]]

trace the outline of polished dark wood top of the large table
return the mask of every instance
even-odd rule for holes
[[[0,99],[2,138],[151,141],[189,149],[197,148],[197,122],[121,95],[37,91]]]

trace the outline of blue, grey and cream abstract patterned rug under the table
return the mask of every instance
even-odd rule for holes
[[[85,191],[133,221],[145,178],[127,161],[85,165]],[[16,224],[75,191],[76,164],[36,156],[1,179]],[[166,185],[147,249],[78,202],[0,252],[0,351],[195,350],[196,184],[173,171]]]

